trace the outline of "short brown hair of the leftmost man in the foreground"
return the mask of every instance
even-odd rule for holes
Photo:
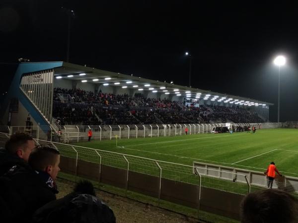
[[[31,135],[25,132],[16,132],[6,141],[5,150],[15,154],[20,147],[26,148],[28,140],[33,140]]]

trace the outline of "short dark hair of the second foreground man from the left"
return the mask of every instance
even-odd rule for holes
[[[29,156],[28,164],[34,170],[44,171],[48,166],[54,166],[57,162],[59,151],[48,146],[33,149]]]

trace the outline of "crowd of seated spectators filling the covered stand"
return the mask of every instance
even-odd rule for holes
[[[73,103],[62,103],[59,94],[68,94]],[[110,107],[112,105],[113,107]],[[176,123],[260,123],[257,114],[243,108],[200,105],[189,107],[170,100],[146,98],[143,94],[94,94],[81,89],[54,89],[53,117],[63,124],[176,124]]]

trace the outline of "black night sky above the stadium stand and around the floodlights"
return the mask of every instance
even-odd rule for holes
[[[68,15],[73,9],[70,62],[133,73],[274,103],[278,68],[281,120],[298,120],[298,13],[293,5],[268,1],[199,0],[1,0],[1,91],[17,58],[66,60]],[[241,4],[240,4],[241,3]]]

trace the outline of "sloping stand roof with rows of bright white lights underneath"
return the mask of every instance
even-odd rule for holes
[[[258,101],[255,99],[222,94],[213,91],[207,91],[198,88],[181,86],[173,83],[166,83],[158,80],[150,80],[139,76],[115,73],[106,70],[96,69],[77,65],[69,62],[63,62],[62,67],[55,68],[55,78],[69,80],[78,80],[92,82],[96,84],[112,85],[123,88],[143,89],[140,91],[152,91],[153,93],[172,94],[184,96],[191,99],[220,101],[231,104],[240,104],[247,106],[273,106],[274,104]]]

